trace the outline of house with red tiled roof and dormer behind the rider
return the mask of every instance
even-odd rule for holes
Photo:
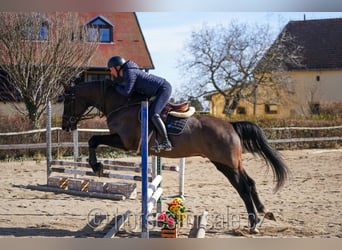
[[[48,17],[49,13],[46,16]],[[90,67],[81,75],[82,81],[109,78],[107,61],[114,55],[121,55],[126,60],[135,61],[142,70],[154,69],[150,52],[134,12],[80,12],[78,18],[87,29],[95,29],[100,34],[99,46],[91,59]],[[46,28],[42,24],[39,34],[41,40],[44,40]],[[0,88],[0,116],[15,112],[10,104],[13,101],[17,100],[13,100],[12,95],[6,94],[6,91]]]

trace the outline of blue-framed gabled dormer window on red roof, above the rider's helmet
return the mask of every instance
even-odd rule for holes
[[[98,40],[101,43],[113,42],[113,24],[103,16],[96,16],[86,23],[88,29],[88,41]]]

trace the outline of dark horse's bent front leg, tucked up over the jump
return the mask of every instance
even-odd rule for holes
[[[114,148],[119,148],[125,150],[125,147],[121,141],[121,138],[117,134],[111,135],[94,135],[92,136],[89,141],[89,165],[93,169],[96,176],[102,176],[103,174],[103,165],[101,162],[97,162],[96,157],[96,148],[99,145],[107,145]]]

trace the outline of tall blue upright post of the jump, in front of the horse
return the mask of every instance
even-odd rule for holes
[[[149,238],[148,231],[148,102],[141,102],[141,238]]]

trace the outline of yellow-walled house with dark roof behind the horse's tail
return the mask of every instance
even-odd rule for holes
[[[258,88],[258,104],[242,100],[235,114],[272,118],[321,112],[342,114],[342,18],[290,21],[282,32],[288,32],[303,48],[302,66],[288,65],[286,72],[292,82],[291,94],[272,95]],[[206,98],[210,113],[225,117],[223,96],[213,92]]]

